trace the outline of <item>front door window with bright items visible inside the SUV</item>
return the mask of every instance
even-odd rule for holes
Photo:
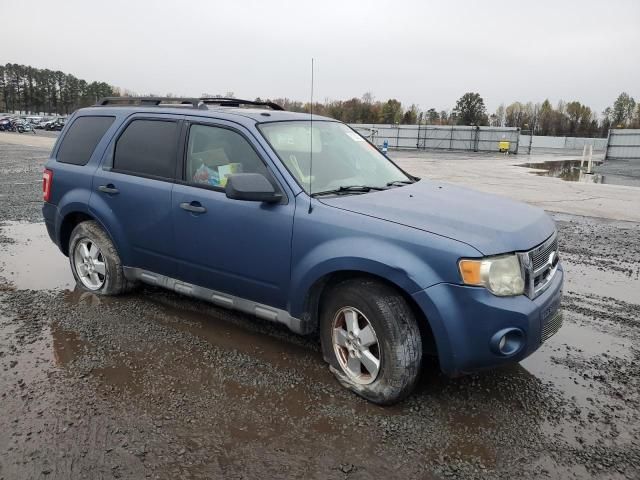
[[[232,173],[261,173],[271,179],[267,167],[242,135],[227,128],[192,125],[185,180],[224,188]]]

